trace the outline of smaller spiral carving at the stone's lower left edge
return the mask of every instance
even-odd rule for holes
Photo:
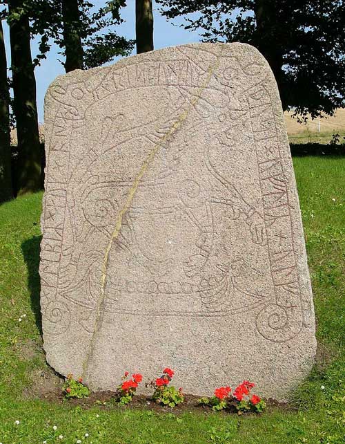
[[[43,317],[43,331],[49,335],[61,335],[70,326],[70,310],[61,301],[50,302]]]

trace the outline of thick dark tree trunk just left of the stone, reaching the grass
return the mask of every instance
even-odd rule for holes
[[[10,15],[10,45],[12,56],[12,85],[14,115],[18,138],[18,194],[41,189],[41,154],[36,106],[36,80],[30,49],[30,25],[23,14],[23,0],[8,1]]]

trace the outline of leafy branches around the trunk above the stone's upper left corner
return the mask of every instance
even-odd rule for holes
[[[41,35],[41,55],[52,42],[66,56],[66,71],[94,68],[118,55],[128,55],[134,41],[121,37],[116,27],[123,23],[120,10],[126,0],[105,1],[101,8],[84,0],[30,0],[32,29]],[[71,54],[72,53],[72,54]],[[72,58],[70,66],[69,58]]]

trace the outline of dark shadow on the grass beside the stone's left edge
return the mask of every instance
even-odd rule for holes
[[[41,236],[34,236],[21,244],[26,266],[28,267],[28,289],[30,290],[31,308],[36,320],[37,329],[42,335],[42,317],[39,294],[41,283],[39,280],[39,246]]]

